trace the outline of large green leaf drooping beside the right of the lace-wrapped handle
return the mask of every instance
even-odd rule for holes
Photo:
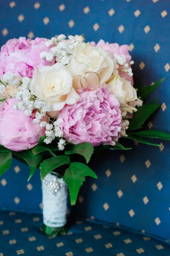
[[[70,192],[71,205],[76,204],[77,195],[85,176],[91,176],[97,179],[97,175],[84,163],[70,163],[70,166],[65,171],[63,180],[68,186]]]

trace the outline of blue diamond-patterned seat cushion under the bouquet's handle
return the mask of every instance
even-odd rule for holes
[[[66,236],[40,232],[41,214],[0,212],[0,256],[169,256],[170,245],[120,227],[76,221]]]

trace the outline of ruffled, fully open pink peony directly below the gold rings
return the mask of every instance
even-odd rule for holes
[[[118,100],[104,87],[79,95],[82,99],[73,105],[66,105],[58,115],[64,121],[60,127],[66,140],[71,138],[73,144],[115,145],[113,140],[119,137],[122,125]]]

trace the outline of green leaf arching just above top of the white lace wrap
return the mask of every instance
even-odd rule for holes
[[[70,163],[69,156],[55,156],[44,160],[40,164],[41,179],[43,180],[49,172],[67,163]]]

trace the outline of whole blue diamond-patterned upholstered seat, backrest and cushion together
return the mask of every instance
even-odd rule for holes
[[[84,33],[86,42],[102,38],[130,45],[135,84],[166,77],[149,99],[159,98],[161,108],[147,128],[170,133],[169,1],[0,0],[0,10],[0,46],[14,37],[61,33]],[[55,239],[39,231],[39,171],[27,183],[28,166],[13,160],[0,177],[0,256],[169,256],[170,143],[158,142],[159,147],[127,142],[130,151],[96,155],[90,165],[98,180],[87,178],[77,205],[69,207],[73,219],[68,234]]]

